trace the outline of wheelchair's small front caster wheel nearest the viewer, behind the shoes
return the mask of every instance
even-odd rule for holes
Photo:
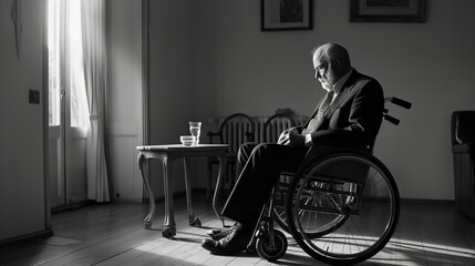
[[[273,231],[273,246],[270,245],[269,234],[262,234],[257,238],[256,249],[259,257],[268,262],[276,262],[281,258],[287,252],[287,237],[282,232]]]

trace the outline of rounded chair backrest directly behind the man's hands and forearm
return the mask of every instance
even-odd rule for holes
[[[282,131],[297,125],[293,115],[278,113],[270,116],[264,124],[264,142],[277,143]]]

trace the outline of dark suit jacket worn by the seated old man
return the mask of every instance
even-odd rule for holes
[[[313,143],[342,146],[357,145],[372,149],[381,127],[384,95],[380,83],[358,73],[354,69],[316,132]],[[318,109],[313,112],[313,117]],[[309,121],[300,127],[304,129]]]

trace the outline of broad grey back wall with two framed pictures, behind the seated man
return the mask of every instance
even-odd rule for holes
[[[393,109],[402,122],[385,123],[375,149],[402,197],[453,200],[450,117],[454,110],[475,109],[475,2],[427,1],[425,23],[351,23],[349,1],[313,2],[312,31],[261,32],[260,1],[200,1],[195,113],[205,121],[279,108],[309,114],[322,95],[310,51],[339,42],[386,95],[413,103],[409,112]]]

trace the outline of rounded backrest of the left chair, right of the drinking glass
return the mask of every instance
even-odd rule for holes
[[[244,113],[226,117],[219,125],[219,143],[229,144],[229,152],[238,151],[240,144],[255,141],[256,125],[252,119]]]

